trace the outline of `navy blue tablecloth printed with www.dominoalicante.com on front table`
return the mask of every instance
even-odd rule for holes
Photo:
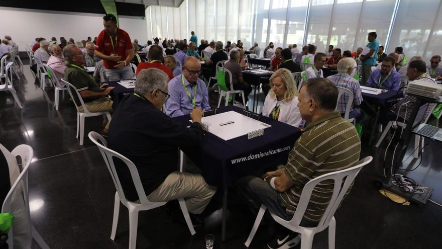
[[[216,113],[243,109],[235,106],[221,107]],[[173,118],[185,126],[190,116]],[[260,121],[272,125],[264,129],[264,135],[248,140],[247,135],[225,141],[207,132],[202,144],[181,150],[200,168],[204,180],[213,186],[229,186],[237,177],[257,170],[268,169],[287,162],[301,131],[293,126],[260,116]]]

